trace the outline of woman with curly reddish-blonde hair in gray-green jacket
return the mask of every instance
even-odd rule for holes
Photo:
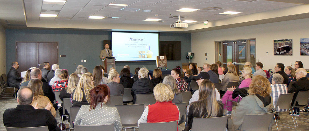
[[[231,119],[227,121],[230,131],[239,130],[243,118],[247,114],[272,113],[273,101],[270,96],[270,83],[265,77],[260,75],[253,77],[248,93],[249,95],[243,97],[236,109],[232,111]],[[270,124],[270,129],[272,125],[273,123]]]

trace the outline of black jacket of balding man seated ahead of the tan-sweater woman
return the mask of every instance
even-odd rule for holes
[[[56,97],[55,97],[55,93],[53,92],[53,88],[48,83],[46,83],[44,79],[42,79],[41,81],[43,82],[42,89],[43,89],[44,96],[48,97],[50,102],[54,103]],[[23,82],[23,84],[21,84],[20,87],[27,86],[28,83],[29,81]]]

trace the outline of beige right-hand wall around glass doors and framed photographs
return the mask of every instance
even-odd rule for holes
[[[192,33],[193,62],[197,62],[198,66],[204,62],[214,63],[214,41],[249,38],[256,38],[256,62],[259,59],[264,64],[263,69],[273,69],[277,62],[285,66],[292,62],[294,68],[294,62],[298,60],[303,62],[305,69],[309,69],[309,56],[300,56],[300,38],[309,38],[309,18]],[[292,56],[273,55],[273,40],[277,39],[293,39]],[[208,53],[207,57],[205,53]]]

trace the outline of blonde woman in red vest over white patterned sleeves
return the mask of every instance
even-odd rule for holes
[[[138,120],[138,126],[140,122],[179,122],[179,109],[177,105],[172,103],[174,93],[168,86],[162,83],[155,86],[154,95],[157,102],[146,106],[141,118]]]

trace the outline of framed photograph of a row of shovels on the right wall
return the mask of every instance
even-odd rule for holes
[[[273,40],[273,55],[293,55],[292,39]]]

